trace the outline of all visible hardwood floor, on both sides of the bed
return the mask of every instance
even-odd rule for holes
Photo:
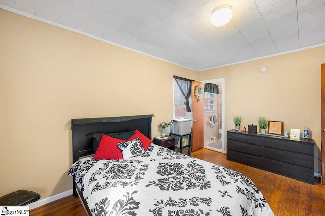
[[[228,161],[225,154],[208,149],[192,157],[241,172],[262,192],[275,215],[325,215],[325,185],[300,182],[271,172]],[[30,215],[87,215],[78,198],[72,195],[30,210]]]

